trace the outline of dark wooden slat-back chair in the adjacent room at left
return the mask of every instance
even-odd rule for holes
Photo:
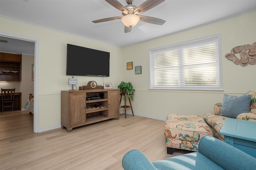
[[[1,94],[2,112],[4,111],[4,107],[12,107],[12,111],[13,111],[15,88],[13,89],[1,88],[1,91],[2,91],[2,94]]]

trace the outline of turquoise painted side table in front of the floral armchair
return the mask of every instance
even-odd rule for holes
[[[256,158],[256,122],[227,118],[220,130],[225,143]]]

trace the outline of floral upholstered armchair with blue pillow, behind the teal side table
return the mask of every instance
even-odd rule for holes
[[[227,117],[256,121],[256,91],[248,91],[236,97],[224,94],[223,102],[214,105],[214,114],[205,113],[204,121],[212,130],[213,136],[224,141],[220,129]]]

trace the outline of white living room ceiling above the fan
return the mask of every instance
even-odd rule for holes
[[[126,0],[118,0],[123,6]],[[139,6],[145,0],[134,0]],[[124,47],[256,10],[256,0],[166,0],[142,13],[166,20],[164,25],[140,21],[124,33],[121,20],[93,20],[122,16],[105,0],[0,0],[0,15]],[[230,25],[230,29],[239,23]],[[17,28],[18,29],[18,28]],[[2,43],[1,43],[2,45]]]

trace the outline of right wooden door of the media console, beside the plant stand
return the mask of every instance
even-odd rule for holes
[[[118,90],[108,92],[108,117],[119,115],[118,100],[119,100]]]

